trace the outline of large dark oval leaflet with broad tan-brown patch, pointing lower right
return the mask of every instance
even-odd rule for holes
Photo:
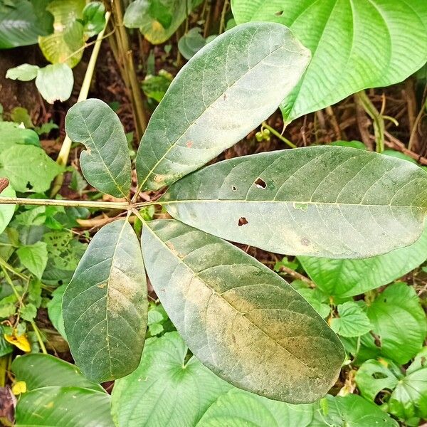
[[[176,329],[218,376],[291,403],[314,401],[334,384],[344,358],[339,339],[263,264],[174,220],[144,225],[142,251]]]

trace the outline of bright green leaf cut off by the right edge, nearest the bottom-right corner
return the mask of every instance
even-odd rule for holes
[[[406,369],[389,400],[389,411],[400,418],[427,417],[427,347]]]

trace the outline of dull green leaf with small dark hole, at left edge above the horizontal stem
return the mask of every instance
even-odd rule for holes
[[[15,191],[42,193],[63,168],[43,149],[16,144],[0,151],[0,176],[6,176]]]

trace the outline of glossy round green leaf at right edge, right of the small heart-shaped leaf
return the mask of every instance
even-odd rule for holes
[[[414,357],[426,339],[426,314],[414,288],[405,283],[390,285],[367,307],[372,331],[379,339],[367,335],[362,344],[374,354],[405,364]]]

